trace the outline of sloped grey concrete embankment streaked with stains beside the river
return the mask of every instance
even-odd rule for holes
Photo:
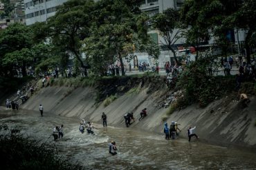
[[[39,104],[44,106],[47,114],[57,114],[67,117],[85,118],[93,123],[101,123],[101,114],[104,111],[108,116],[108,125],[125,127],[123,115],[134,112],[136,122],[131,128],[163,133],[162,117],[166,109],[158,107],[158,101],[165,92],[161,89],[147,94],[147,88],[140,89],[139,93],[127,93],[119,96],[110,105],[95,103],[96,92],[91,87],[46,87],[40,89],[22,107],[28,110],[38,110]],[[191,105],[181,111],[175,111],[168,119],[180,123],[181,136],[187,137],[189,126],[196,126],[196,134],[200,140],[220,145],[239,145],[256,148],[256,118],[255,97],[251,98],[249,107],[241,108],[241,103],[230,98],[217,100],[203,109]],[[148,116],[138,121],[140,111],[147,107]],[[38,113],[39,114],[39,113]]]

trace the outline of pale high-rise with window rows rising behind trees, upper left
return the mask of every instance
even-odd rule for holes
[[[68,0],[24,0],[26,25],[44,22],[55,15],[57,6]]]

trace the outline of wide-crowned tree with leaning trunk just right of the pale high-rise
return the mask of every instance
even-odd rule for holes
[[[54,45],[61,45],[66,52],[71,52],[85,70],[87,66],[81,59],[80,49],[82,41],[89,36],[93,4],[93,0],[67,1],[57,9],[55,16],[48,19],[44,29],[38,29],[37,35],[50,38]]]

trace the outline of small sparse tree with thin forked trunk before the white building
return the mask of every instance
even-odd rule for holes
[[[176,63],[179,63],[174,50],[174,44],[181,38],[183,32],[179,21],[179,12],[168,8],[163,13],[156,14],[152,18],[152,24],[163,36],[165,42],[161,42],[161,44],[167,45],[167,48],[172,51]]]

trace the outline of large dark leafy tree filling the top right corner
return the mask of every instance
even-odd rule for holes
[[[234,28],[245,30],[246,56],[247,62],[250,63],[250,42],[252,42],[250,39],[256,29],[255,7],[256,1],[253,0],[188,0],[181,9],[181,19],[185,25],[190,26],[190,30],[198,32],[202,38],[208,39],[213,36],[223,50],[229,43],[226,39],[229,30]],[[188,37],[196,40],[194,35],[196,34],[190,33]]]

